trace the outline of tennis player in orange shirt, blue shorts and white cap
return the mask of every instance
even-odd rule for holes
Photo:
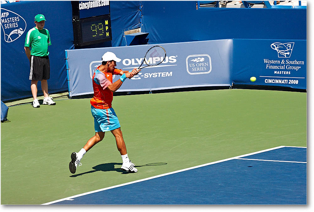
[[[77,166],[82,165],[80,160],[83,155],[95,144],[104,139],[106,131],[111,131],[116,138],[116,145],[122,157],[121,170],[129,172],[138,171],[127,156],[127,149],[122,137],[120,123],[115,111],[111,107],[111,102],[113,92],[120,88],[125,79],[131,79],[134,75],[138,74],[140,69],[134,68],[129,72],[116,69],[116,62],[120,61],[121,59],[116,57],[113,52],[106,52],[102,56],[101,65],[95,70],[92,80],[94,97],[90,100],[90,104],[96,133],[79,152],[73,152],[71,154],[69,169],[73,174]],[[112,83],[112,74],[121,75],[121,77],[116,82]]]

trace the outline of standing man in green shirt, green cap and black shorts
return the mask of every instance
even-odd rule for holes
[[[36,26],[30,29],[25,38],[24,50],[30,60],[30,90],[34,101],[33,107],[40,107],[37,99],[37,82],[41,81],[41,89],[44,93],[44,105],[55,105],[51,97],[48,96],[47,79],[50,78],[50,64],[48,46],[51,45],[50,35],[45,26],[45,16],[37,14],[34,23]]]

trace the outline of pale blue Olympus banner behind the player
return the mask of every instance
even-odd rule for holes
[[[116,68],[129,71],[140,66],[152,46],[66,50],[69,96],[93,93],[92,75],[101,64],[105,52],[114,52],[122,59]],[[127,79],[118,91],[231,85],[232,40],[168,43],[161,46],[167,53],[164,62],[143,68],[138,75]],[[119,76],[115,76],[113,82],[118,79]]]

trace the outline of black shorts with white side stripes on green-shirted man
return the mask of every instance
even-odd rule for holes
[[[41,81],[50,78],[49,57],[30,56],[30,80]]]

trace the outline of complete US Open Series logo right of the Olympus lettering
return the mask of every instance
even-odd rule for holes
[[[208,54],[189,55],[187,57],[187,73],[206,74],[212,71],[212,62]]]

